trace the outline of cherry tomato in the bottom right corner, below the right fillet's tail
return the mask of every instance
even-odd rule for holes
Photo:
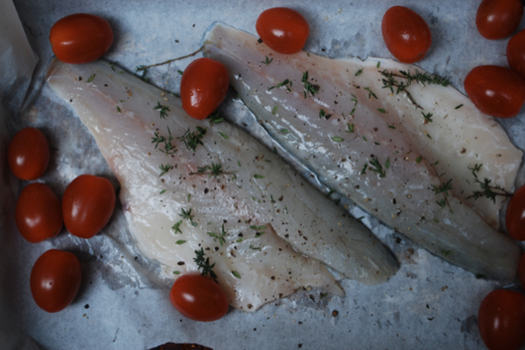
[[[490,292],[479,306],[478,326],[490,350],[518,350],[525,342],[525,295],[503,289]]]

